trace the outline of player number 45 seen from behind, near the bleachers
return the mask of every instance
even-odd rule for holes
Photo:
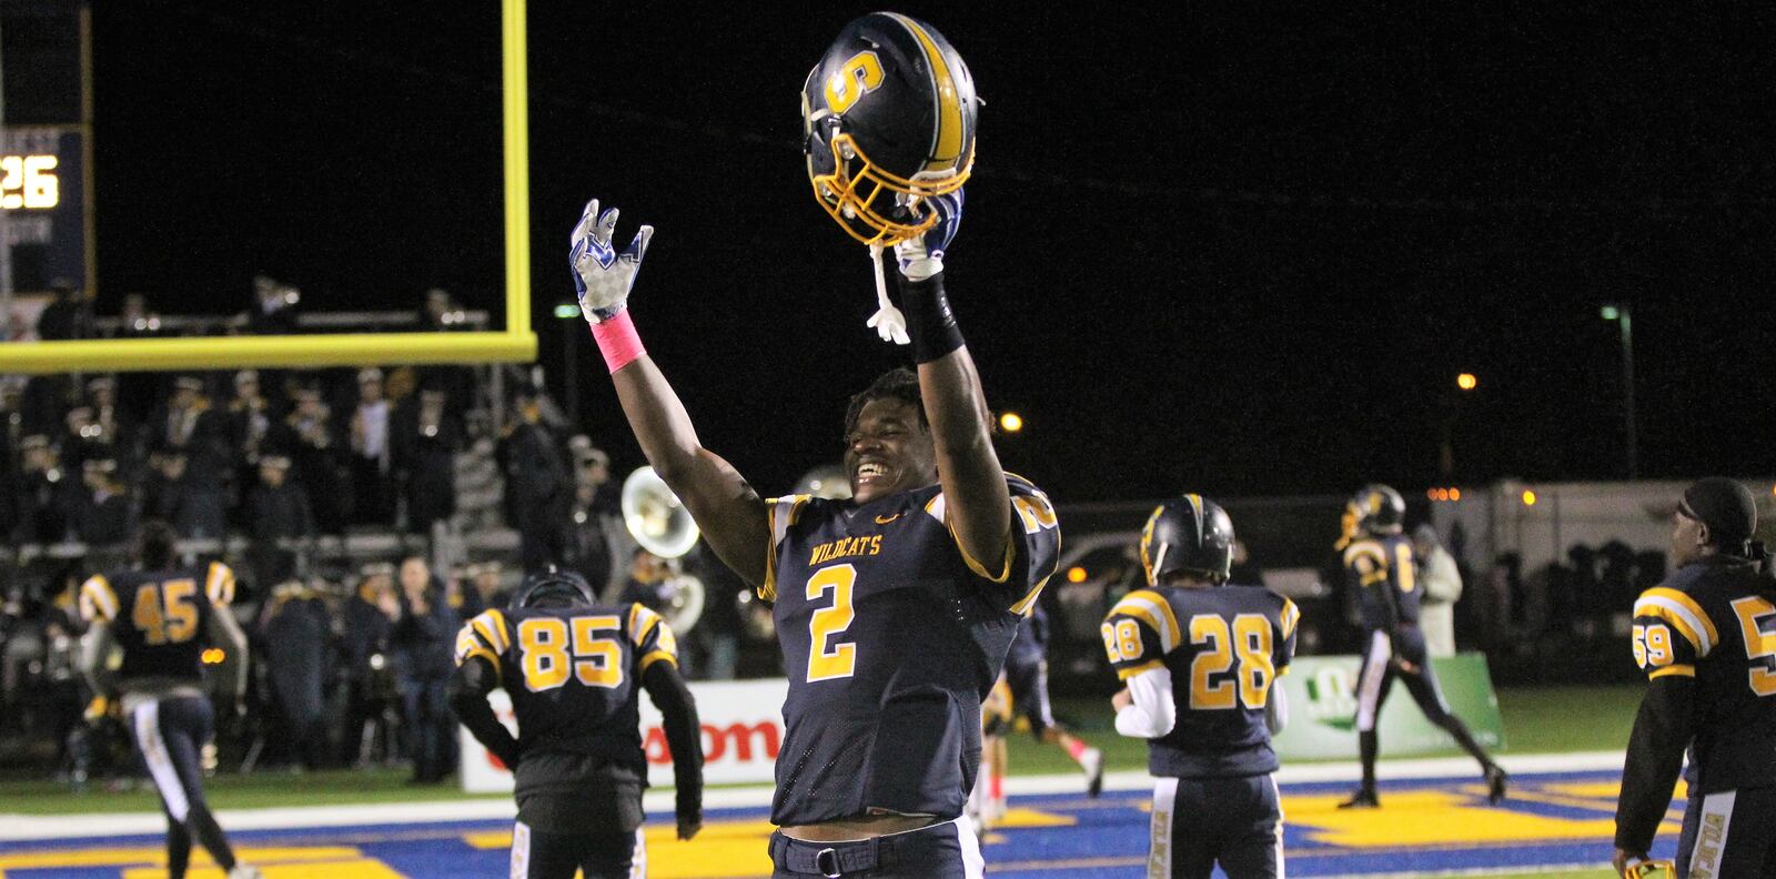
[[[167,813],[167,875],[185,875],[195,836],[229,879],[254,879],[259,870],[234,859],[204,803],[199,758],[215,732],[215,710],[204,694],[206,646],[222,648],[231,712],[247,694],[247,636],[227,609],[234,572],[220,561],[181,566],[178,540],[172,526],[142,522],[131,547],[135,566],[92,575],[80,586],[80,616],[87,622],[82,668],[92,693],[123,700]],[[123,662],[114,669],[115,650]]]

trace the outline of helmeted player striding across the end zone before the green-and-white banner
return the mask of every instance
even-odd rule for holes
[[[1424,717],[1447,732],[1474,760],[1487,778],[1487,799],[1504,799],[1508,776],[1492,762],[1487,749],[1467,732],[1460,717],[1449,714],[1449,705],[1437,687],[1437,673],[1424,652],[1424,632],[1419,630],[1417,568],[1412,559],[1412,540],[1401,533],[1407,501],[1385,485],[1368,485],[1344,508],[1344,574],[1357,590],[1366,630],[1362,669],[1357,673],[1357,748],[1362,755],[1362,787],[1339,808],[1376,808],[1375,756],[1378,739],[1375,719],[1382,714],[1387,691],[1394,678],[1407,684],[1412,701]]]

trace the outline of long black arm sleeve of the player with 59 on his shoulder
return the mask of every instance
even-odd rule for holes
[[[1684,767],[1684,749],[1694,735],[1691,705],[1696,680],[1669,675],[1653,680],[1634,717],[1629,758],[1621,767],[1621,799],[1616,801],[1616,847],[1646,854],[1659,820],[1671,806],[1671,790]]]

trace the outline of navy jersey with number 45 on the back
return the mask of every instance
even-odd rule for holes
[[[227,613],[234,572],[220,561],[202,568],[94,574],[80,584],[80,616],[110,623],[123,666],[117,678],[204,677],[210,614]]]

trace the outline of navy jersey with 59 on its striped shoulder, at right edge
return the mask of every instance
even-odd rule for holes
[[[1696,678],[1703,794],[1776,785],[1776,582],[1746,559],[1684,565],[1634,602],[1634,662]]]

